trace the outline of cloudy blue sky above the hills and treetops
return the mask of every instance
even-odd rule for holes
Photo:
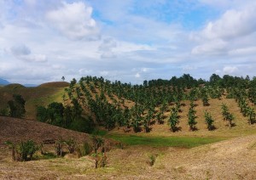
[[[0,78],[256,76],[254,0],[0,0]]]

